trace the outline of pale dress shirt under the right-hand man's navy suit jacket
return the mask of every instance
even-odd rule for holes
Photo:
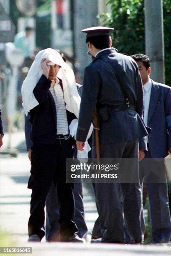
[[[150,96],[151,96],[151,87],[152,87],[152,81],[149,78],[148,82],[143,85],[143,92],[144,92],[144,123],[147,125],[148,123],[148,110],[150,105]],[[148,136],[147,142],[148,142]]]

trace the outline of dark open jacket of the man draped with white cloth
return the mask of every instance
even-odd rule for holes
[[[56,107],[54,98],[49,91],[51,80],[44,75],[41,76],[33,90],[39,105],[30,111],[30,122],[32,125],[30,138],[33,143],[55,143],[56,141]],[[76,118],[75,115],[66,110],[68,125]]]

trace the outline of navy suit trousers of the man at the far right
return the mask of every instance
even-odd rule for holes
[[[157,177],[160,177],[163,183],[158,183]],[[155,183],[151,183],[153,179]],[[143,182],[143,180],[146,183],[150,202],[153,241],[154,243],[168,242],[171,236],[171,217],[165,166],[163,162],[151,158],[149,148],[145,153],[145,159],[140,161],[140,181]]]

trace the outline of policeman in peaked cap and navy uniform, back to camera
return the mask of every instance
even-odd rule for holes
[[[143,87],[138,67],[129,56],[110,48],[109,31],[112,28],[87,28],[86,42],[95,59],[86,67],[82,89],[82,100],[77,129],[77,149],[84,148],[94,108],[97,112],[107,109],[107,116],[101,115],[100,156],[101,158],[134,158],[134,166],[127,172],[138,175],[139,138],[148,133],[141,120],[143,112]],[[139,158],[144,156],[145,145],[140,148]],[[95,148],[93,147],[95,156]],[[136,160],[137,159],[137,160]],[[140,183],[121,184],[123,209],[127,230],[134,243],[141,243]],[[96,184],[97,209],[105,230],[100,242],[123,243],[123,212],[119,189],[114,184]]]

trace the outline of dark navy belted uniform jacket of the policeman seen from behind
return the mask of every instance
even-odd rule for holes
[[[100,143],[133,141],[148,134],[140,118],[143,114],[143,86],[138,66],[131,57],[107,49],[97,54],[84,71],[77,141],[86,140],[96,105],[97,111],[105,105],[124,105],[120,83],[135,110],[112,111],[107,121],[100,122]]]

